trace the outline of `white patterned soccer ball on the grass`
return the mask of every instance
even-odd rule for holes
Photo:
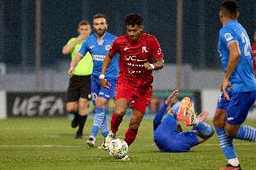
[[[123,158],[128,153],[128,145],[122,139],[113,139],[108,146],[108,152],[111,157]]]

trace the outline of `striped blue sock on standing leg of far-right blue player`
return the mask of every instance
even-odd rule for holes
[[[236,153],[233,148],[233,139],[226,136],[224,128],[215,128],[215,130],[220,141],[220,146],[223,149],[224,156],[227,159],[236,158]]]

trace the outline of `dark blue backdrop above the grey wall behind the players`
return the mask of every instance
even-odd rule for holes
[[[219,0],[183,1],[183,63],[196,68],[220,68],[216,53]],[[242,22],[249,36],[256,28],[256,1],[238,1]],[[0,62],[8,70],[34,66],[35,1],[0,0]],[[141,13],[145,31],[157,36],[167,63],[176,62],[176,1],[174,0],[43,0],[41,1],[41,67],[54,67],[63,58],[62,46],[76,36],[80,20],[92,21],[104,13],[109,31],[123,34],[123,18]]]

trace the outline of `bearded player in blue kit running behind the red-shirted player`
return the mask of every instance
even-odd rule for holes
[[[94,147],[98,130],[101,130],[104,138],[108,134],[107,118],[105,116],[105,104],[112,97],[114,97],[115,85],[119,73],[118,57],[116,57],[112,60],[110,66],[107,68],[105,77],[101,77],[105,78],[109,82],[109,88],[104,88],[100,85],[99,76],[103,66],[103,61],[116,37],[106,31],[107,22],[104,14],[96,14],[94,16],[93,24],[96,32],[83,42],[81,49],[78,51],[77,58],[71,62],[69,68],[70,74],[73,72],[74,67],[77,66],[79,60],[87,53],[87,51],[90,52],[94,63],[93,73],[91,76],[91,92],[93,103],[96,105],[96,115],[94,118],[92,133],[89,139],[87,139],[87,145],[89,147]]]

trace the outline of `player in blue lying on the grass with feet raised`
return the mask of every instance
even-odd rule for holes
[[[204,122],[208,116],[208,112],[202,112],[197,117],[194,104],[187,102],[188,97],[184,98],[181,102],[175,103],[167,113],[166,117],[162,120],[166,109],[178,95],[178,90],[169,94],[165,103],[160,108],[159,112],[154,117],[154,142],[161,152],[187,152],[190,148],[206,141],[212,137],[215,130],[212,126]],[[187,120],[190,120],[187,125],[193,126],[191,131],[181,132],[182,129],[177,121],[178,113],[187,115]],[[184,115],[184,117],[186,117]]]

